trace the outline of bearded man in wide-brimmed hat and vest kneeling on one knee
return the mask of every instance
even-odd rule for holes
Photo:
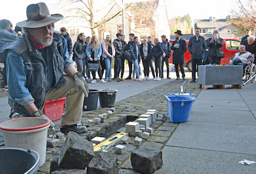
[[[77,124],[81,123],[88,84],[77,73],[67,52],[67,42],[54,31],[54,22],[63,16],[50,15],[46,4],[38,3],[28,6],[27,17],[17,24],[25,33],[4,51],[9,105],[22,117],[47,119],[42,112],[45,101],[66,97],[61,132],[86,132],[86,126]]]

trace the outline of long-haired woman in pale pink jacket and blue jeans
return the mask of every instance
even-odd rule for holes
[[[106,64],[106,82],[111,81],[111,68],[113,66],[114,56],[116,54],[115,47],[111,41],[110,35],[106,36],[106,40],[102,43],[103,60]]]

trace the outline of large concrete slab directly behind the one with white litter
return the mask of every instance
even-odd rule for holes
[[[256,155],[255,133],[256,126],[186,122],[166,145]]]

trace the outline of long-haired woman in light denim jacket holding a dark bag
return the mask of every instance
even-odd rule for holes
[[[102,79],[102,72],[100,68],[100,56],[102,54],[102,48],[100,43],[98,42],[97,36],[92,36],[92,41],[86,46],[86,55],[89,64],[99,64],[98,75],[100,77],[100,82],[106,83],[104,79]],[[93,80],[91,83],[97,83],[96,73],[92,71]]]

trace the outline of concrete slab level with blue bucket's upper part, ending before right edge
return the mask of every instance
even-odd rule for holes
[[[225,110],[249,110],[244,102],[241,101],[222,101],[209,99],[196,99],[193,103],[193,108],[215,108]]]

